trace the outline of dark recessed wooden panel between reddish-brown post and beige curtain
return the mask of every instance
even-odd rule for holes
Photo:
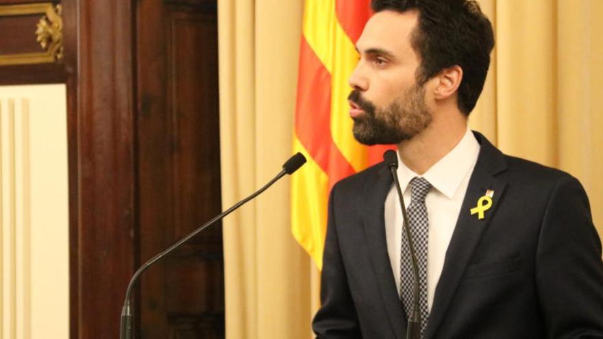
[[[145,1],[138,18],[145,18],[138,21],[138,187],[147,260],[221,211],[216,3]],[[223,299],[214,225],[143,277],[140,337],[224,338]]]

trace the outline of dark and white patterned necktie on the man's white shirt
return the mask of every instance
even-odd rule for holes
[[[425,197],[432,188],[429,181],[422,177],[410,180],[410,205],[406,208],[410,236],[413,237],[413,247],[419,266],[419,305],[421,306],[421,338],[427,325],[429,312],[427,309],[427,245],[429,223]],[[406,240],[406,231],[402,230],[402,253],[400,260],[400,297],[408,316],[413,307],[413,264],[410,261],[410,249]]]

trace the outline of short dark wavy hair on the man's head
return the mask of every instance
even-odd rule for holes
[[[419,19],[411,45],[421,58],[417,82],[424,84],[445,68],[463,68],[458,88],[458,109],[469,115],[484,88],[490,52],[494,47],[492,25],[473,0],[373,0],[374,12],[417,10]]]

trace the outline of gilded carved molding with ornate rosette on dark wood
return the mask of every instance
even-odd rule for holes
[[[63,58],[61,5],[52,3],[27,3],[0,5],[0,18],[42,14],[37,27],[32,27],[32,38],[40,43],[42,51],[36,53],[0,55],[0,66],[17,64],[44,64]]]

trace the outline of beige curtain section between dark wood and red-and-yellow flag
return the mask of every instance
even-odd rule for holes
[[[302,5],[218,1],[224,209],[263,186],[291,155]],[[229,339],[310,337],[316,275],[291,236],[289,184],[284,177],[223,221]]]

